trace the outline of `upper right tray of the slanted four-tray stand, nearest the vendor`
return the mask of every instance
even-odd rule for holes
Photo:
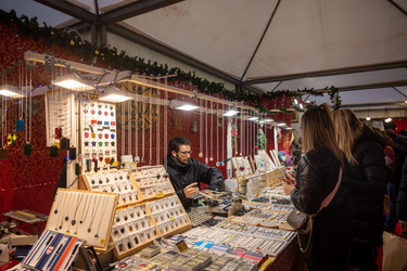
[[[163,166],[131,169],[144,199],[160,198],[175,193],[168,173]]]

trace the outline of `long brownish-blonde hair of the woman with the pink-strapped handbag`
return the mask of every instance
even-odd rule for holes
[[[317,146],[329,149],[343,167],[343,154],[335,140],[335,128],[328,104],[307,109],[301,118],[304,152]]]

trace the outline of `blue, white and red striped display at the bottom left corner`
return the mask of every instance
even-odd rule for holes
[[[22,264],[36,270],[69,270],[86,241],[76,236],[44,230]]]

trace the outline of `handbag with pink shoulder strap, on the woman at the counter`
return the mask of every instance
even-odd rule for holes
[[[338,182],[336,182],[336,185],[335,188],[332,190],[332,192],[322,201],[321,203],[321,207],[319,208],[319,210],[317,211],[317,214],[319,211],[322,210],[322,208],[327,207],[332,198],[334,197],[334,195],[336,194],[336,191],[341,184],[341,181],[342,181],[342,168],[340,168],[340,173],[339,173],[339,177],[338,177]],[[291,212],[289,214],[289,216],[287,217],[287,222],[298,233],[301,234],[309,234],[308,236],[308,244],[306,246],[306,248],[303,248],[301,246],[301,242],[300,242],[300,236],[297,234],[297,237],[298,237],[298,244],[300,244],[300,249],[301,251],[303,253],[306,253],[308,250],[308,247],[309,247],[309,243],[310,243],[310,237],[313,235],[313,224],[314,224],[314,218],[315,216],[317,216],[317,214],[311,214],[311,215],[307,215],[305,212],[302,212],[295,208],[293,208],[291,210]]]

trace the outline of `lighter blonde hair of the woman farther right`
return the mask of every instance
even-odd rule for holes
[[[351,109],[339,109],[332,113],[333,125],[336,130],[336,141],[339,147],[345,153],[351,164],[358,164],[352,154],[355,140],[360,136],[364,124]]]

